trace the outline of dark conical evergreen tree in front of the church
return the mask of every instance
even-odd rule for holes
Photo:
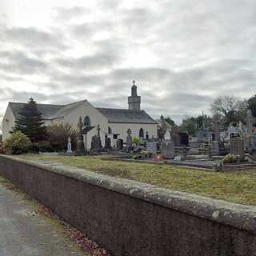
[[[31,142],[40,142],[46,140],[47,137],[44,123],[42,113],[38,111],[37,103],[33,98],[30,98],[30,101],[22,107],[18,114],[13,132],[20,130],[30,138]]]

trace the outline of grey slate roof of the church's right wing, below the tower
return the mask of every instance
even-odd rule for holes
[[[156,124],[154,119],[150,118],[150,115],[146,114],[144,110],[96,109],[108,118],[109,122]]]

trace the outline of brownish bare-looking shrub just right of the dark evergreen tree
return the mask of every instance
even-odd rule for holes
[[[50,147],[55,151],[64,151],[67,147],[67,139],[72,141],[72,150],[75,150],[78,131],[72,128],[68,122],[53,124],[47,128]]]

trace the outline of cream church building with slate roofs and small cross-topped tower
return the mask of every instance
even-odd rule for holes
[[[2,120],[3,141],[10,136],[24,104],[26,103],[9,102]],[[157,122],[145,110],[141,110],[141,97],[137,94],[135,83],[131,87],[128,105],[128,109],[98,108],[83,100],[67,105],[38,104],[38,110],[42,113],[46,126],[56,122],[68,122],[74,129],[78,129],[78,120],[82,117],[83,126],[88,127],[88,133],[84,136],[86,150],[90,150],[91,139],[98,133],[102,146],[105,146],[106,138],[110,140],[111,146],[116,146],[118,138],[126,142],[129,129],[132,137],[157,138]]]

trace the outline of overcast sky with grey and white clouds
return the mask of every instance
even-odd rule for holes
[[[255,0],[1,0],[0,122],[8,102],[142,109],[176,122],[256,93]]]

